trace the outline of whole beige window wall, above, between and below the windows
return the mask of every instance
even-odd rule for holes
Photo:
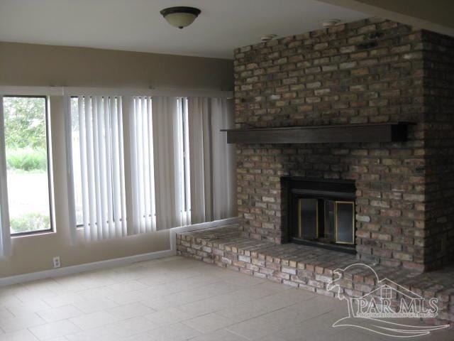
[[[231,60],[125,53],[85,48],[0,43],[0,85],[81,87],[232,88]],[[168,232],[70,244],[63,97],[50,97],[55,227],[51,234],[15,237],[0,260],[0,278],[52,269],[52,258],[72,266],[170,248]]]

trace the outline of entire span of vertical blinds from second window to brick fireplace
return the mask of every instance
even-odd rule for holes
[[[226,99],[81,96],[67,107],[74,239],[75,227],[98,240],[236,214]]]

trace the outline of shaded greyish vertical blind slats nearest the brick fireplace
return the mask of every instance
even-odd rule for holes
[[[189,97],[189,163],[192,223],[236,215],[235,154],[221,129],[233,127],[225,98]]]

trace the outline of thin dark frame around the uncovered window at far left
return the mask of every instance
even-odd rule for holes
[[[4,98],[43,98],[44,105],[45,105],[45,141],[46,141],[46,158],[48,160],[48,197],[49,197],[49,220],[50,220],[50,228],[49,229],[38,229],[35,231],[26,231],[26,232],[16,232],[13,233],[11,231],[11,222],[10,222],[10,234],[11,238],[15,237],[26,237],[35,234],[48,234],[55,232],[55,224],[54,224],[54,202],[53,202],[53,186],[52,186],[52,155],[50,144],[52,144],[52,140],[50,139],[50,110],[49,110],[49,98],[45,95],[34,95],[34,94],[4,94]],[[6,146],[5,146],[6,149]],[[6,178],[8,178],[8,174],[6,174]],[[8,188],[7,188],[8,190]],[[9,201],[9,199],[8,199]]]

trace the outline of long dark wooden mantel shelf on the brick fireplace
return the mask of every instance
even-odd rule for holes
[[[409,123],[222,129],[228,144],[340,144],[406,141]]]

